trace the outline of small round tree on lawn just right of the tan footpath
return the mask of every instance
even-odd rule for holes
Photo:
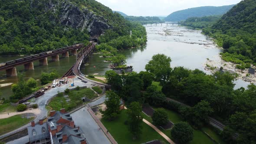
[[[157,126],[164,126],[168,122],[167,113],[165,112],[164,108],[157,108],[155,109],[152,121],[154,125]]]

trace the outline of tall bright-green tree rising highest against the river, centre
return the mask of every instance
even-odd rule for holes
[[[145,69],[155,75],[156,81],[166,83],[171,75],[171,58],[164,54],[154,55]]]

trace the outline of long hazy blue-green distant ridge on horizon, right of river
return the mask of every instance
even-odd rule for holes
[[[229,11],[234,5],[222,6],[222,7],[195,7],[186,10],[179,10],[171,13],[165,18],[165,21],[182,21],[187,20],[190,17],[203,17],[213,15],[223,15]]]

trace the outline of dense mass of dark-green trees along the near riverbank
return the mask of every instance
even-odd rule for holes
[[[170,57],[157,54],[145,66],[146,72],[118,75],[107,71],[105,77],[112,91],[125,100],[128,107],[135,101],[164,107],[176,111],[196,129],[209,124],[208,116],[211,116],[226,124],[219,134],[227,144],[255,144],[255,85],[249,85],[247,90],[243,87],[234,90],[235,76],[228,72],[219,70],[207,75],[198,69],[171,68],[170,62]],[[152,85],[153,81],[163,86],[160,92]],[[189,106],[167,101],[166,97]],[[238,136],[233,138],[234,134]]]

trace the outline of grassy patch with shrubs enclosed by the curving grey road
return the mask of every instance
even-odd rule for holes
[[[63,108],[65,108],[66,111],[70,111],[73,108],[76,108],[77,106],[83,103],[81,98],[87,97],[91,99],[91,98],[97,97],[97,95],[90,88],[84,88],[78,91],[73,90],[73,91],[70,91],[68,95],[69,95],[68,98],[65,98],[64,96],[62,97],[56,96],[50,101],[49,106],[52,107],[53,110],[59,111],[62,108],[62,103],[63,103]],[[68,99],[70,99],[69,102],[66,101]]]

